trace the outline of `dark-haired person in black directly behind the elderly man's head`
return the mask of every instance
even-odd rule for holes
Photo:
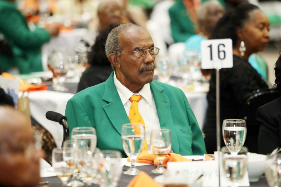
[[[117,26],[118,25],[111,25],[101,31],[97,36],[95,44],[88,53],[88,63],[90,67],[83,72],[77,92],[106,81],[113,71],[104,49],[109,32]]]

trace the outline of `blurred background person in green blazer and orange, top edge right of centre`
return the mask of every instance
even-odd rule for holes
[[[171,32],[174,42],[185,42],[189,37],[198,33],[198,20],[196,12],[200,9],[201,3],[207,0],[177,0],[169,8],[171,18]],[[224,6],[224,1],[219,0]]]

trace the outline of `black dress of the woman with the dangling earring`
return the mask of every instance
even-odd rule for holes
[[[244,58],[233,55],[233,67],[220,70],[220,123],[222,124],[225,119],[234,118],[239,106],[250,93],[265,88],[268,88],[268,85],[250,63]],[[211,75],[207,101],[208,108],[203,132],[207,153],[213,154],[217,150],[215,71]],[[225,146],[222,133],[220,135],[221,146]]]

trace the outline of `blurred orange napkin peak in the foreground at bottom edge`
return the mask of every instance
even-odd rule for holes
[[[140,174],[136,175],[131,180],[131,182],[128,184],[127,187],[143,187],[143,186],[161,187],[145,172],[140,172]]]

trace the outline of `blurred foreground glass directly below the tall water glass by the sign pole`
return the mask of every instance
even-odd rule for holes
[[[227,147],[222,147],[221,152],[225,177],[231,181],[231,187],[238,187],[248,168],[248,149],[242,147],[239,153],[233,155]]]

